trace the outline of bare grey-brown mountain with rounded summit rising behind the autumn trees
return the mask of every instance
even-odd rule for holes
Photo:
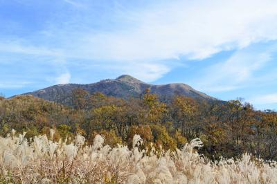
[[[145,89],[150,89],[150,93],[155,93],[161,97],[170,97],[172,95],[185,95],[191,98],[202,100],[216,100],[205,93],[193,89],[187,84],[174,83],[165,85],[152,85],[137,80],[130,75],[121,75],[115,80],[101,80],[92,84],[58,84],[46,89],[40,89],[23,95],[33,95],[45,100],[60,102],[65,99],[73,89],[84,89],[90,94],[100,92],[118,98],[139,97],[145,93]]]

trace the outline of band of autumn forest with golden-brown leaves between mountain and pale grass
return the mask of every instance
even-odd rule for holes
[[[205,101],[175,95],[163,99],[146,90],[141,98],[114,98],[75,89],[67,105],[30,95],[0,98],[0,136],[11,129],[26,138],[49,135],[55,140],[72,140],[81,134],[92,144],[97,134],[105,143],[132,147],[139,134],[141,147],[176,149],[200,138],[199,150],[208,158],[236,157],[249,152],[260,158],[277,160],[277,113],[256,111],[242,100]]]

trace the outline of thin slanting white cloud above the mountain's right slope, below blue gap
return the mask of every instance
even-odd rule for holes
[[[273,46],[274,48],[275,46]],[[197,89],[202,91],[232,91],[260,82],[255,76],[271,61],[272,48],[242,49],[226,61],[208,66],[196,80]]]

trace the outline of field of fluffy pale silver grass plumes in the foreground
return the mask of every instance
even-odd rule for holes
[[[132,149],[111,149],[99,135],[91,146],[80,135],[70,144],[52,138],[28,141],[15,131],[0,137],[0,183],[277,183],[275,161],[243,154],[212,162],[195,151],[202,147],[199,139],[172,152],[140,150],[139,135]]]

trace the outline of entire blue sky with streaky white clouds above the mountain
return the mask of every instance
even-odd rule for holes
[[[0,92],[129,74],[277,109],[277,1],[0,0]]]

